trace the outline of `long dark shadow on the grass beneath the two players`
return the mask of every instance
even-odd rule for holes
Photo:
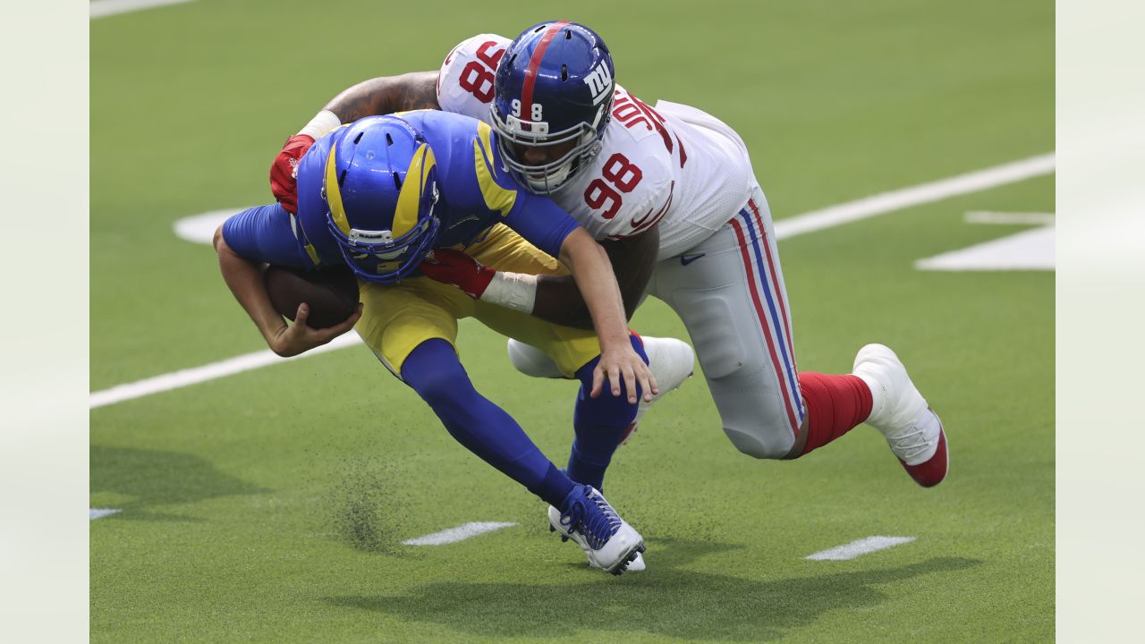
[[[584,571],[576,584],[467,583],[416,587],[397,596],[327,597],[326,603],[437,623],[475,637],[567,639],[579,631],[633,631],[682,639],[779,639],[832,610],[870,608],[887,599],[879,584],[981,561],[933,558],[917,564],[774,581],[686,570],[701,556],[735,549],[710,542],[658,541],[646,573],[608,578]],[[579,567],[584,567],[583,564]]]

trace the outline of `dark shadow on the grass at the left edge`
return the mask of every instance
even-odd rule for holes
[[[151,509],[269,492],[220,472],[210,461],[177,451],[93,445],[89,471],[93,495],[109,492],[129,498],[117,503],[123,512],[109,519],[192,521],[197,519]]]

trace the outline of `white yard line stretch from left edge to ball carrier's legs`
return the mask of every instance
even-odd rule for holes
[[[172,371],[171,374],[164,374],[153,378],[136,380],[126,385],[117,385],[110,390],[98,391],[90,395],[88,399],[88,406],[89,408],[95,409],[96,407],[103,407],[104,405],[114,405],[116,402],[143,398],[144,395],[151,395],[152,393],[177,390],[188,385],[196,385],[215,378],[242,374],[243,371],[259,369],[260,367],[267,367],[269,364],[277,364],[279,362],[298,360],[308,355],[326,353],[327,351],[356,345],[361,341],[362,338],[360,338],[357,333],[346,333],[338,336],[331,340],[330,344],[311,348],[302,355],[295,355],[293,358],[279,358],[270,350],[246,353],[222,360],[220,362],[204,364],[203,367],[181,369],[179,371]]]

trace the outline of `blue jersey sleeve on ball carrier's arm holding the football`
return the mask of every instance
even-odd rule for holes
[[[317,254],[309,254],[297,236],[297,221],[281,204],[246,209],[222,225],[222,238],[239,257],[299,268],[316,268]]]

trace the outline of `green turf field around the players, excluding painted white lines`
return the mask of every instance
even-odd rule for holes
[[[435,69],[468,36],[585,22],[617,80],[703,108],[776,220],[1053,150],[1053,7],[922,0],[192,2],[92,22],[92,391],[264,350],[176,220],[270,199],[282,142],[341,88]],[[559,15],[558,15],[559,14]],[[916,260],[1028,230],[1044,175],[780,244],[799,366],[893,346],[951,455],[918,488],[870,427],[796,462],[724,437],[701,377],[617,454],[648,571],[613,578],[457,445],[363,347],[92,410],[93,642],[1045,642],[1053,637],[1053,281]],[[634,328],[685,337],[649,300]],[[569,383],[463,322],[474,383],[563,464]],[[402,541],[518,524],[441,547]],[[915,541],[845,561],[813,552]]]

